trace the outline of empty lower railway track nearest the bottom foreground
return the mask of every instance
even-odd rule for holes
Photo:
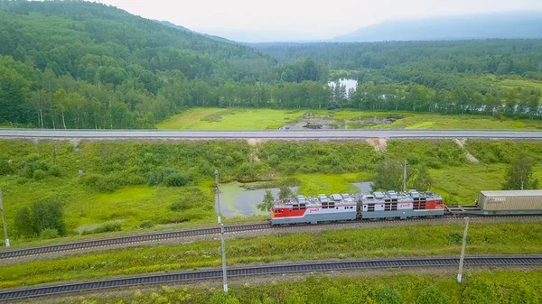
[[[232,267],[227,270],[229,277],[245,277],[267,274],[283,274],[295,272],[328,272],[360,269],[404,268],[404,267],[443,267],[456,266],[459,258],[413,258],[386,260],[358,260],[344,262],[304,262],[274,264],[253,267]],[[509,266],[509,265],[542,265],[542,255],[525,256],[483,256],[465,257],[466,266]],[[174,272],[167,274],[150,274],[118,279],[85,281],[51,286],[36,286],[18,290],[0,290],[0,301],[28,299],[42,296],[59,295],[70,292],[125,288],[135,285],[156,285],[182,281],[200,281],[219,279],[221,269],[211,269],[200,272]]]

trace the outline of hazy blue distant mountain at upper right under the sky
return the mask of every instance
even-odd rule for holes
[[[542,12],[444,16],[389,21],[360,28],[332,41],[435,41],[542,38]]]

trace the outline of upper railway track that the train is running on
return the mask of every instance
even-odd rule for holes
[[[461,219],[463,218],[463,216],[465,215],[446,215],[446,216],[438,217],[437,219],[439,220]],[[537,215],[472,216],[470,215],[469,217],[471,217],[472,219],[481,219],[481,218],[489,219],[489,218],[519,218],[519,217],[542,217],[542,216],[537,216]],[[354,223],[361,223],[361,222],[377,225],[378,223],[391,223],[391,222],[423,223],[423,222],[429,222],[429,221],[434,221],[434,220],[435,220],[435,217],[421,217],[421,218],[408,218],[408,219],[355,220],[355,221],[348,221],[348,222],[322,223],[319,225],[320,226],[334,226],[334,225],[347,225],[347,224],[354,224]],[[287,226],[287,228],[294,229],[295,227],[303,227],[303,226],[312,226],[312,225],[310,224],[295,225],[295,226]],[[280,226],[272,227],[268,223],[254,223],[254,224],[238,225],[238,226],[224,226],[225,232],[227,233],[248,232],[248,231],[255,231],[255,230],[272,229],[272,228],[281,228],[281,227]],[[86,250],[86,249],[92,249],[92,248],[101,248],[101,247],[123,245],[123,244],[145,244],[145,243],[154,242],[154,241],[173,240],[177,238],[196,236],[196,235],[218,235],[218,234],[220,234],[220,227],[206,227],[206,228],[198,228],[198,229],[156,232],[156,233],[140,234],[140,235],[109,237],[109,238],[102,238],[102,239],[95,239],[95,240],[81,241],[81,242],[74,242],[74,243],[65,243],[65,244],[52,244],[52,245],[29,247],[29,248],[9,250],[9,251],[0,251],[0,261],[7,260],[7,259],[23,258],[27,256],[34,256],[34,255],[49,254],[49,253],[61,253],[61,252],[69,252],[69,251],[77,251],[77,250]]]

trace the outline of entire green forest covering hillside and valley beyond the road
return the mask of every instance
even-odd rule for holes
[[[154,128],[192,106],[539,118],[540,81],[540,40],[244,45],[107,5],[0,0],[4,126]]]

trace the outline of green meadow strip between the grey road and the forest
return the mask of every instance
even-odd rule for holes
[[[513,81],[513,80],[509,80]],[[520,81],[520,80],[517,80]],[[503,82],[503,85],[507,82]],[[483,115],[439,115],[412,112],[360,112],[352,110],[274,110],[191,108],[157,125],[158,129],[182,130],[266,130],[297,121],[305,113],[329,116],[349,129],[542,129],[541,120],[498,119]],[[400,115],[391,124],[381,119]],[[374,121],[373,121],[374,120]]]

